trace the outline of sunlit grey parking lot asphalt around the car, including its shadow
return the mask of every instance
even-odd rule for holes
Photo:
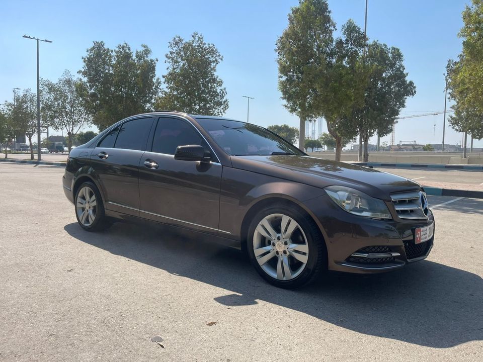
[[[427,260],[286,291],[195,235],[82,230],[62,173],[0,163],[0,360],[483,360],[483,200],[429,197]]]

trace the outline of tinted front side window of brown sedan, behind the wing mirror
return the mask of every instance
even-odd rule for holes
[[[186,121],[174,118],[159,119],[152,141],[152,152],[174,155],[178,146],[188,144],[209,149],[200,133]]]

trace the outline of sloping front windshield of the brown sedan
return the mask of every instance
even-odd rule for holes
[[[254,124],[214,118],[196,120],[218,146],[232,156],[304,154],[287,141]]]

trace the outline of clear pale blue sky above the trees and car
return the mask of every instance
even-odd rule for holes
[[[400,117],[440,112],[444,109],[443,73],[448,59],[461,51],[457,33],[461,12],[469,0],[368,0],[367,36],[399,48],[405,56],[408,79],[416,95],[408,99]],[[127,42],[132,49],[148,45],[158,59],[156,73],[166,73],[165,54],[176,35],[190,38],[195,31],[213,43],[223,56],[218,75],[229,100],[225,116],[247,119],[267,127],[298,119],[284,107],[277,88],[275,42],[287,26],[287,15],[298,0],[177,0],[67,2],[2,0],[0,2],[0,102],[11,101],[12,89],[36,89],[35,41],[24,34],[52,43],[40,43],[40,76],[50,80],[64,69],[76,73],[93,41],[110,48]],[[329,0],[338,31],[349,19],[364,27],[364,0]],[[448,110],[451,102],[448,102]],[[448,115],[447,115],[448,117]],[[436,126],[434,126],[436,125]],[[324,124],[327,131],[327,125]],[[441,143],[443,115],[409,118],[396,125],[395,140]],[[56,132],[51,134],[56,134]],[[462,136],[446,119],[445,143],[461,144]],[[381,142],[389,143],[390,136]],[[375,137],[370,140],[375,143]],[[468,137],[469,143],[469,137]],[[482,141],[474,141],[483,147]]]

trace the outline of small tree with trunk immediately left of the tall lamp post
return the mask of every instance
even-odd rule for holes
[[[15,133],[25,133],[29,140],[30,159],[34,159],[32,137],[37,133],[37,96],[30,89],[25,89],[21,95],[15,96],[15,105],[5,103],[5,110]]]

